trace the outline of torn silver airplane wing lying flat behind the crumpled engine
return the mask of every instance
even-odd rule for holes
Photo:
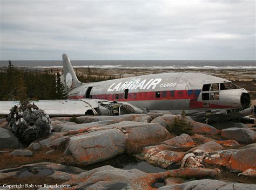
[[[83,116],[86,112],[90,110],[93,115],[102,114],[108,115],[112,114],[112,105],[125,105],[123,103],[117,103],[116,101],[107,100],[97,100],[97,99],[79,99],[79,100],[39,100],[31,101],[35,103],[39,109],[42,109],[50,117],[60,117],[60,116]],[[14,105],[18,105],[19,101],[0,101],[0,115],[8,115],[10,109]],[[131,107],[134,112],[140,111],[140,109],[134,107],[133,105],[125,105],[125,108]],[[118,106],[115,106],[118,108]],[[110,111],[111,110],[111,111]],[[120,110],[117,110],[120,112]],[[121,114],[121,113],[120,113]]]

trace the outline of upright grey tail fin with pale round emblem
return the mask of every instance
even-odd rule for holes
[[[78,87],[82,84],[77,79],[76,73],[71,65],[68,55],[62,54],[63,59],[63,71],[64,71],[64,85],[67,91]]]

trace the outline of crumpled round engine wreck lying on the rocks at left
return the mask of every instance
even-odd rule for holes
[[[49,115],[29,101],[19,103],[10,109],[8,127],[22,143],[49,134],[52,130]]]

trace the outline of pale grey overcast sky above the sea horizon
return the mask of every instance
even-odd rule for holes
[[[255,60],[254,0],[0,2],[0,60]]]

